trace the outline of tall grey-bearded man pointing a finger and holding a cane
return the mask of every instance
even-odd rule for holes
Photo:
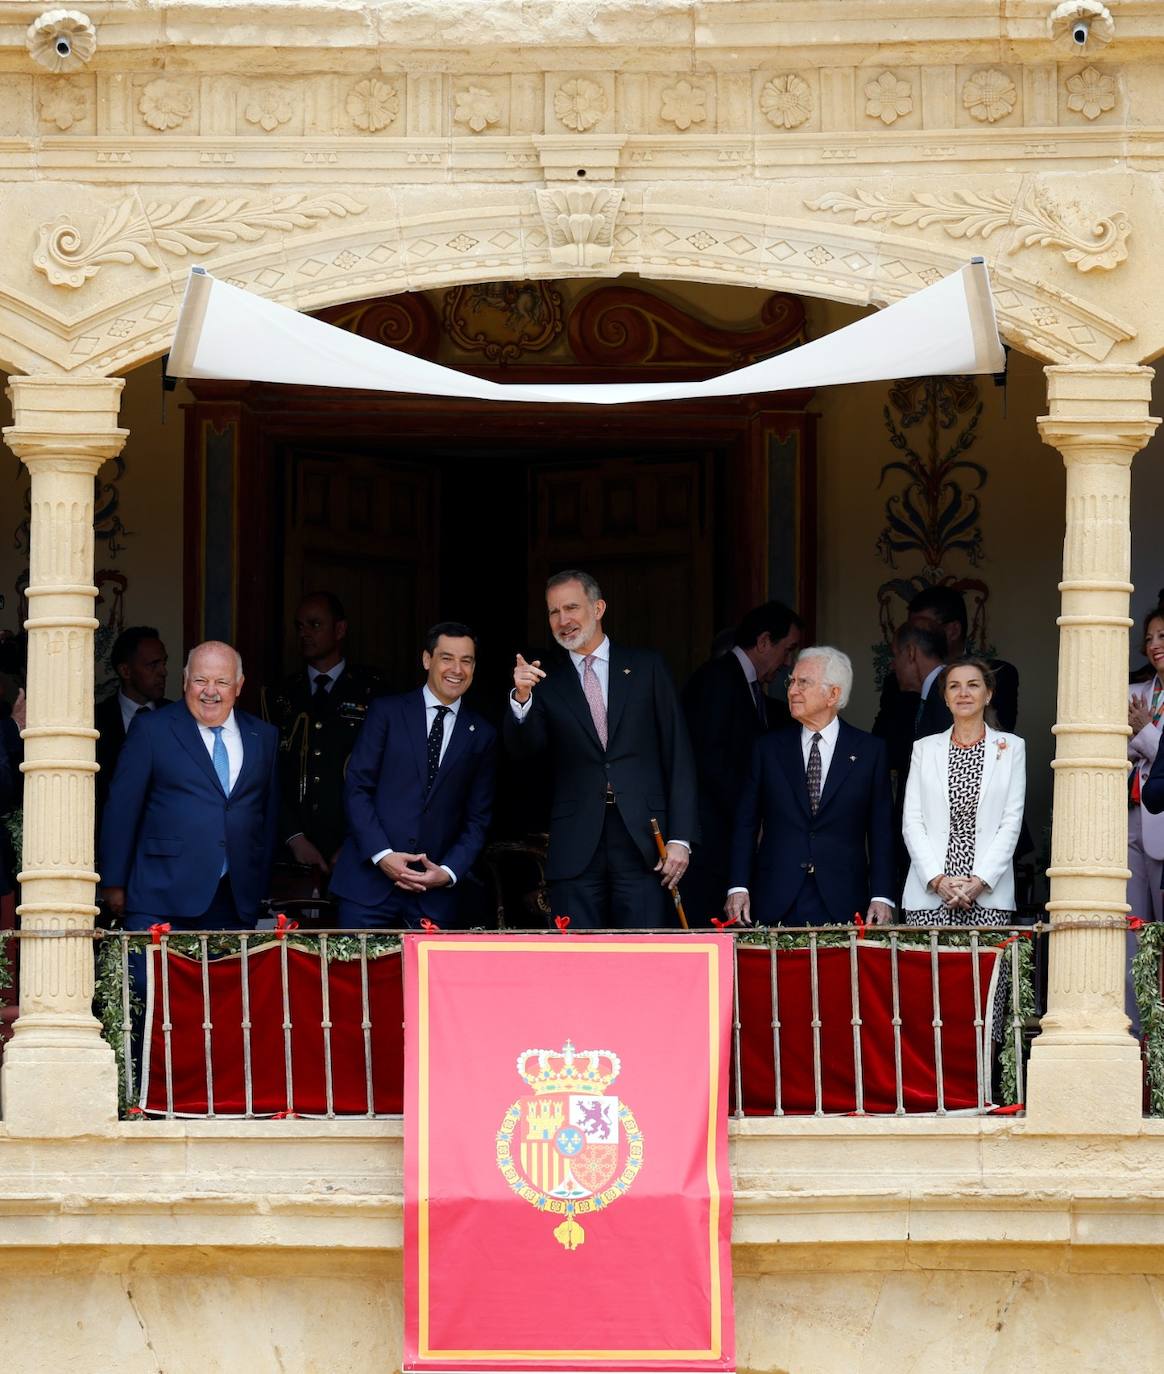
[[[699,838],[695,761],[675,684],[658,654],[610,643],[606,602],[588,573],[551,577],[546,609],[569,658],[547,675],[517,655],[502,728],[518,757],[548,750],[552,758],[554,914],[581,929],[675,925],[671,889]]]

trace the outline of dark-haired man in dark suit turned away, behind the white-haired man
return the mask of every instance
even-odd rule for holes
[[[694,925],[723,911],[735,805],[752,749],[770,730],[792,721],[767,687],[800,649],[804,624],[782,602],[748,611],[721,658],[695,669],[683,688],[683,713],[695,754],[702,841],[683,878],[683,905]]]

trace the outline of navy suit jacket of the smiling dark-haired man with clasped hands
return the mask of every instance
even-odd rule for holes
[[[348,761],[344,802],[348,838],[335,863],[331,896],[378,907],[397,893],[371,861],[382,849],[427,855],[448,864],[463,882],[485,844],[493,813],[497,732],[463,702],[432,791],[427,723],[421,690],[378,697],[368,706]],[[455,888],[434,888],[416,899],[422,916],[441,923],[456,905]]]

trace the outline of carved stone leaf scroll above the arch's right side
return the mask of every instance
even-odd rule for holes
[[[1080,272],[1110,271],[1126,261],[1131,220],[1113,210],[1090,225],[1072,225],[1068,212],[1035,185],[1011,196],[1005,191],[913,191],[886,195],[858,188],[830,191],[804,202],[809,210],[852,214],[855,224],[892,224],[929,228],[937,224],[952,239],[988,239],[999,229],[1014,229],[1011,253],[1040,246],[1058,249]]]

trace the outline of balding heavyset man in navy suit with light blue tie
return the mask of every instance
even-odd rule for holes
[[[104,899],[128,930],[253,926],[279,818],[279,732],[235,709],[242,660],[190,651],[183,699],[133,719],[102,820]]]

